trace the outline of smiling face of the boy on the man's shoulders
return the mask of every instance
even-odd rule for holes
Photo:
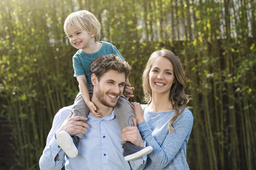
[[[79,30],[77,27],[67,27],[67,36],[70,44],[76,49],[87,50],[95,43],[95,35],[85,30]]]

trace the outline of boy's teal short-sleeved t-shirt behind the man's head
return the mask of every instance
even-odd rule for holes
[[[87,81],[87,87],[93,87],[91,74],[89,72],[92,61],[98,55],[117,54],[122,60],[123,57],[114,45],[105,41],[99,41],[102,43],[101,48],[95,53],[85,53],[82,49],[78,50],[73,56],[73,68],[74,77],[85,75]]]

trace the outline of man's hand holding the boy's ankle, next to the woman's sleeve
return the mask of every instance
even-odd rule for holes
[[[139,134],[135,118],[133,118],[133,124],[134,126],[127,126],[122,130],[122,141],[130,141],[136,146],[143,147],[142,136]]]

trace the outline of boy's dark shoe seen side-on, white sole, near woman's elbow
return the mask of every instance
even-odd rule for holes
[[[123,155],[125,161],[132,161],[137,158],[143,157],[144,155],[149,154],[153,148],[151,146],[148,147],[138,147],[132,144],[130,141],[126,141],[123,144]]]

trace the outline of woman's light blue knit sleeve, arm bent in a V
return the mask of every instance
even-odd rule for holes
[[[137,125],[142,138],[153,148],[153,151],[148,154],[148,157],[156,167],[159,169],[164,168],[172,161],[189,136],[193,126],[193,119],[191,112],[183,112],[182,116],[173,123],[175,132],[168,131],[161,146],[152,136],[152,131],[146,121]]]

